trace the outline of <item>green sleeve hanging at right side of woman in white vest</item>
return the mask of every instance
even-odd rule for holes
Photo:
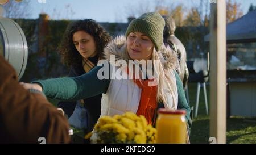
[[[176,84],[177,84],[177,91],[178,91],[178,109],[182,109],[187,111],[186,114],[186,120],[189,119],[190,115],[190,107],[188,106],[187,99],[185,98],[185,93],[183,90],[183,84],[181,82],[179,74],[175,71],[175,77],[176,77]]]

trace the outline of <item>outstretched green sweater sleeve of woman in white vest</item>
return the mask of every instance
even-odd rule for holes
[[[106,93],[110,79],[99,79],[97,76],[101,66],[96,66],[90,72],[79,77],[64,77],[34,81],[43,87],[43,93],[48,98],[59,100],[80,100]]]

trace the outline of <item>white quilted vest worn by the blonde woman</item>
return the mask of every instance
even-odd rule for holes
[[[174,72],[171,73],[171,78],[174,78],[176,83]],[[136,114],[141,99],[141,91],[142,89],[136,85],[133,79],[112,79],[106,94],[102,94],[101,116],[122,115],[127,111]],[[166,95],[167,104],[164,104],[164,107],[177,109],[177,88]]]

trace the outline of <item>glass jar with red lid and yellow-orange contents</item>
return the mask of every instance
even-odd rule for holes
[[[187,123],[185,110],[158,110],[156,143],[185,144],[187,140]]]

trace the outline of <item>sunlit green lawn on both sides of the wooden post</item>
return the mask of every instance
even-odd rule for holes
[[[191,106],[196,104],[196,83],[189,83],[189,101]],[[209,143],[209,115],[205,114],[203,91],[200,91],[199,110],[197,118],[193,118],[191,127],[191,143]],[[208,104],[209,86],[207,86]],[[208,105],[209,108],[209,105]],[[227,119],[226,143],[256,144],[256,118],[230,116]]]

